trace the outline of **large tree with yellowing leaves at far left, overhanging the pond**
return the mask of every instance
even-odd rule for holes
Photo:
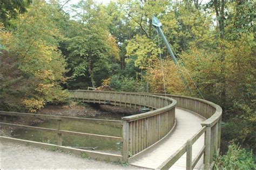
[[[6,46],[1,56],[5,63],[1,69],[1,105],[9,110],[24,105],[34,112],[46,103],[62,102],[68,97],[59,86],[66,80],[66,63],[57,49],[60,35],[53,11],[51,5],[35,2],[19,17],[14,33],[1,32],[1,41]],[[8,67],[12,68],[13,74],[8,73]],[[25,82],[31,84],[25,86]],[[15,88],[19,89],[16,93],[13,92]],[[10,97],[18,100],[8,100]]]

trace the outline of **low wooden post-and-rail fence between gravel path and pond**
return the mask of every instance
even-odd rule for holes
[[[26,130],[36,130],[36,131],[43,131],[43,132],[52,132],[57,134],[58,139],[58,145],[53,144],[44,144],[39,143],[35,141],[29,141],[29,140],[22,140],[22,139],[14,139],[14,138],[8,138],[8,137],[0,137],[2,140],[10,141],[15,140],[19,143],[25,143],[25,144],[31,144],[41,147],[57,147],[61,150],[65,150],[72,153],[85,153],[88,155],[88,157],[97,158],[100,160],[112,160],[112,161],[118,161],[122,159],[122,155],[118,154],[110,154],[110,153],[102,153],[102,152],[96,152],[96,151],[86,151],[86,150],[79,150],[76,148],[71,147],[64,147],[62,146],[62,136],[63,134],[72,135],[72,136],[82,136],[82,137],[97,137],[102,140],[110,140],[114,143],[122,142],[123,138],[121,137],[114,137],[114,136],[105,136],[101,134],[92,134],[92,133],[82,133],[82,132],[74,132],[74,131],[65,131],[61,130],[61,122],[62,121],[82,121],[82,122],[90,122],[90,123],[97,123],[97,124],[107,124],[107,125],[113,125],[113,126],[122,126],[122,121],[112,121],[112,120],[105,120],[105,119],[92,119],[92,118],[78,118],[78,117],[66,117],[66,116],[52,116],[52,115],[41,115],[41,114],[28,114],[28,113],[21,113],[21,112],[8,112],[8,111],[0,111],[0,115],[5,116],[21,116],[21,117],[33,117],[33,118],[41,118],[41,119],[53,119],[57,120],[58,122],[58,128],[57,129],[49,129],[49,128],[39,128],[35,126],[26,126],[26,125],[19,125],[19,124],[11,124],[11,123],[3,123],[0,122],[0,125],[2,126],[9,126],[14,127],[18,129],[26,129]]]

